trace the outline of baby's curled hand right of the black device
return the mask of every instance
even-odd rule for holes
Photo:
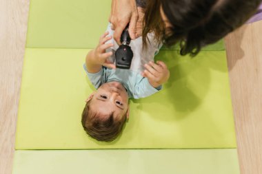
[[[157,63],[146,63],[145,70],[142,73],[143,77],[148,78],[148,82],[152,87],[159,87],[166,81],[170,76],[168,67],[162,61],[157,61]]]

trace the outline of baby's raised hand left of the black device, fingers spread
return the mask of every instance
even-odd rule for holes
[[[112,56],[112,52],[105,52],[106,49],[113,46],[113,43],[105,43],[112,39],[112,36],[108,36],[109,32],[105,32],[99,39],[99,45],[94,49],[94,62],[103,65],[105,67],[116,68],[114,63],[108,61],[108,58]]]

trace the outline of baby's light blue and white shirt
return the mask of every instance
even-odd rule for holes
[[[113,36],[114,30],[111,30],[110,23],[108,24],[107,31],[111,36]],[[110,69],[102,67],[99,72],[92,74],[87,71],[86,65],[84,64],[83,67],[85,72],[88,74],[88,78],[94,87],[98,89],[103,83],[118,81],[122,83],[128,91],[129,98],[145,98],[161,90],[162,86],[154,88],[148,82],[148,78],[141,76],[141,72],[144,70],[143,65],[149,61],[154,61],[154,56],[159,52],[160,47],[163,45],[154,39],[154,33],[148,34],[148,40],[150,42],[148,43],[148,49],[146,50],[143,50],[141,36],[130,42],[130,47],[134,53],[130,69]],[[119,47],[113,37],[107,43],[113,43],[114,46],[106,50],[106,52],[115,52]],[[110,60],[114,60],[114,56],[115,55],[112,54]]]

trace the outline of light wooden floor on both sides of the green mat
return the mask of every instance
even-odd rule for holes
[[[0,0],[0,174],[10,174],[29,0]],[[242,174],[262,173],[262,21],[225,41]]]

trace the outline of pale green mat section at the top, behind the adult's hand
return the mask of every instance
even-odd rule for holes
[[[110,8],[108,0],[31,0],[26,47],[94,48]],[[224,50],[223,41],[203,50]]]

